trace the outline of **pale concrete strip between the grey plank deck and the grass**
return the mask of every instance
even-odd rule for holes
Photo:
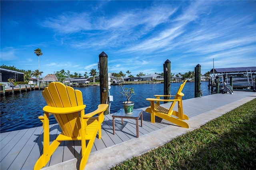
[[[235,92],[236,93],[236,92]],[[102,150],[97,150],[96,152],[92,152],[89,156],[88,162],[86,164],[86,168],[88,170],[106,170],[120,162],[128,160],[133,156],[139,156],[143,153],[148,152],[158,146],[165,144],[166,142],[176,138],[181,134],[185,134],[186,132],[192,131],[196,128],[200,128],[202,125],[211,121],[217,117],[222,116],[225,113],[247,103],[256,98],[255,92],[246,92],[248,95],[239,99],[238,101],[234,101],[227,105],[218,107],[211,111],[207,111],[200,115],[196,115],[190,118],[188,121],[190,128],[182,128],[177,126],[168,126],[161,128],[159,130],[155,130],[148,134],[144,134],[139,138],[133,138],[131,140],[127,140],[120,144],[116,144],[110,146],[108,148],[104,148]],[[221,95],[221,94],[220,94]],[[224,94],[228,95],[228,94]],[[230,95],[231,97],[231,95]],[[202,97],[203,98],[203,97]],[[185,100],[186,101],[186,100]],[[210,101],[209,101],[210,102]],[[142,108],[145,110],[145,108]],[[100,161],[99,161],[100,160]],[[62,162],[60,164],[56,164],[53,166],[49,166],[43,168],[45,170],[76,170],[79,167],[80,160],[77,158],[68,160],[66,162]]]

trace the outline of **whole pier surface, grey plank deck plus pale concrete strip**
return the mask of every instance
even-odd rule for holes
[[[152,94],[153,95],[153,94]],[[105,115],[102,124],[102,138],[95,139],[94,146],[86,164],[86,169],[108,169],[116,164],[152,150],[172,140],[180,134],[192,131],[208,121],[239,107],[256,98],[255,92],[236,91],[230,94],[214,94],[183,100],[184,114],[188,115],[186,122],[190,128],[182,128],[165,120],[150,122],[150,114],[143,110],[143,127],[139,126],[139,138],[136,138],[136,121],[115,119],[115,135],[113,134],[112,114]],[[85,103],[86,104],[86,103]],[[162,104],[170,107],[171,103]],[[96,107],[96,106],[95,106]],[[175,107],[175,109],[177,109]],[[140,120],[139,120],[140,121]],[[41,125],[38,119],[38,124]],[[35,127],[0,134],[0,169],[33,169],[34,164],[42,154],[43,128]],[[50,127],[50,140],[60,134],[58,124]],[[78,141],[65,141],[60,144],[45,166],[45,169],[77,169],[80,158],[81,144]],[[98,159],[101,163],[98,164]]]

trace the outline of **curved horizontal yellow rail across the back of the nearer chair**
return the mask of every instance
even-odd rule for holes
[[[45,106],[43,108],[43,111],[47,113],[53,113],[53,114],[67,114],[67,113],[74,113],[78,111],[84,110],[86,105],[80,105],[75,107],[51,107],[51,106]]]

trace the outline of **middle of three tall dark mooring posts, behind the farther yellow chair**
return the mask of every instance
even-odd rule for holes
[[[164,95],[171,95],[171,61],[168,59],[164,62]],[[164,99],[170,99],[170,97],[164,97]]]

